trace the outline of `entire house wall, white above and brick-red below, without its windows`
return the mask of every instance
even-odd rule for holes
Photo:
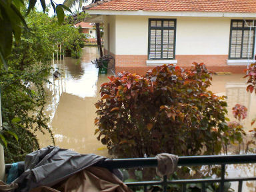
[[[175,59],[148,59],[150,18],[177,19]],[[106,33],[109,23],[109,50],[115,55],[116,72],[144,73],[153,65],[169,63],[189,67],[195,61],[205,63],[213,71],[241,73],[247,66],[247,59],[235,64],[228,59],[231,19],[243,18],[107,15],[105,16],[105,49],[109,43]]]

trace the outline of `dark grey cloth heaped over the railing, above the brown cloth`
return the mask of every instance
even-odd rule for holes
[[[25,157],[25,172],[13,183],[25,192],[42,185],[53,186],[59,181],[105,159],[94,154],[82,155],[59,147],[45,147]]]

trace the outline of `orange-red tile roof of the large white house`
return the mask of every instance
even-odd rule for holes
[[[83,9],[256,13],[256,0],[104,0]]]

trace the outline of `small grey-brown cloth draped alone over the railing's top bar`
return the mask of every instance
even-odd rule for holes
[[[171,175],[177,169],[179,161],[179,157],[177,155],[161,153],[155,157],[157,158],[157,175],[159,177]]]

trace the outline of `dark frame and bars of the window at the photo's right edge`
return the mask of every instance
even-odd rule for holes
[[[253,19],[245,19],[246,21],[253,21]],[[242,21],[243,22],[243,27],[232,27],[232,24],[233,24],[233,21]],[[256,20],[254,20],[254,23],[256,23]],[[254,51],[255,51],[255,27],[251,27],[252,31],[253,31],[253,49],[252,49],[252,54],[251,54],[251,57],[249,57],[249,59],[254,59],[255,58],[255,55],[254,55]],[[241,57],[231,57],[231,39],[232,39],[232,29],[233,30],[242,30],[242,41],[241,41],[241,50],[240,50],[240,54],[241,54]],[[243,34],[244,34],[244,31],[245,30],[250,30],[250,27],[245,27],[245,21],[243,19],[231,19],[231,22],[230,22],[230,33],[229,33],[229,59],[230,60],[241,60],[241,59],[248,59],[248,57],[243,57]],[[248,50],[247,50],[248,51]]]

